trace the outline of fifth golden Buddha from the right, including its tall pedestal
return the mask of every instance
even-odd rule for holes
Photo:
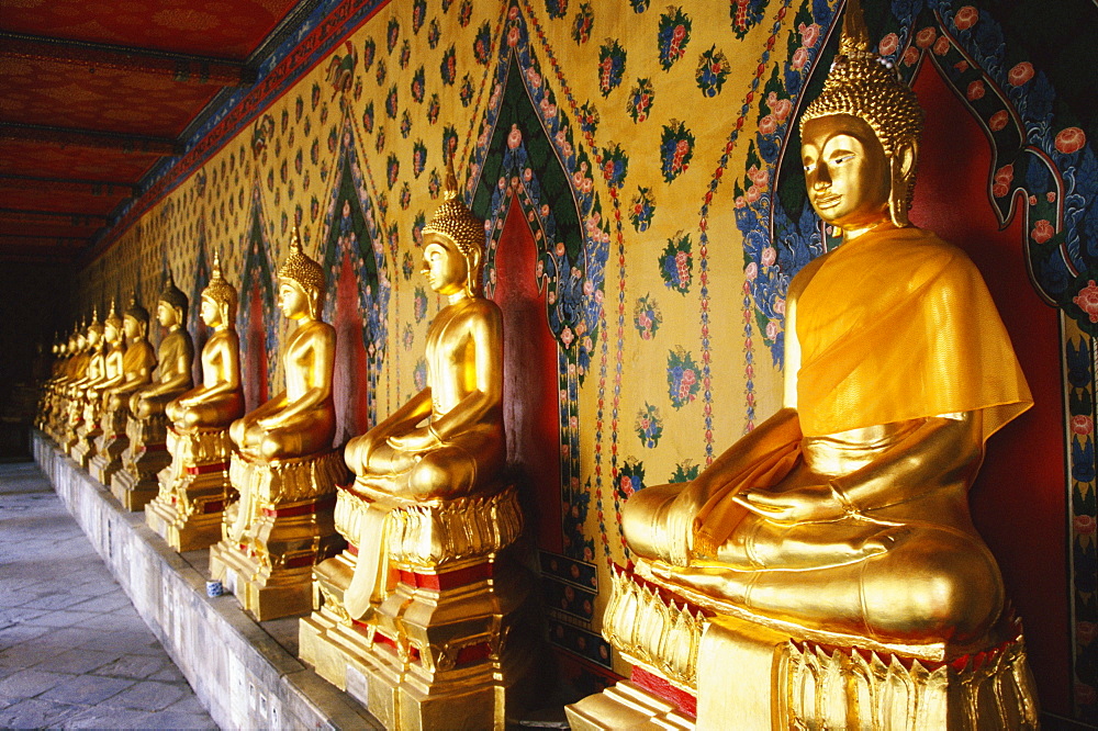
[[[167,330],[157,349],[156,373],[150,385],[130,396],[130,445],[122,456],[122,469],[111,477],[111,492],[130,510],[141,510],[159,492],[157,473],[171,462],[165,408],[194,385],[194,345],[183,327],[187,307],[187,295],[176,286],[169,270],[156,305],[156,318]]]

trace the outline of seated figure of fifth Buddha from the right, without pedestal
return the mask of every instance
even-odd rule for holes
[[[187,322],[187,295],[176,286],[169,270],[164,291],[156,305],[156,318],[167,330],[157,348],[157,370],[153,385],[130,397],[130,411],[135,418],[144,419],[163,414],[165,407],[178,395],[194,385],[191,363],[194,362],[194,344],[183,327]]]

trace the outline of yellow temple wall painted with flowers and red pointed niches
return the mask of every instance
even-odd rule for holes
[[[133,289],[155,310],[170,269],[192,297],[198,331],[197,297],[220,251],[240,288],[254,407],[281,384],[288,328],[272,278],[300,222],[306,254],[328,272],[346,440],[423,385],[424,337],[441,302],[418,274],[419,229],[441,201],[452,156],[466,200],[488,221],[489,295],[525,306],[516,322],[538,330],[523,346],[536,362],[508,360],[511,392],[525,405],[508,419],[541,435],[513,435],[524,447],[512,460],[536,493],[527,496],[538,544],[530,561],[541,570],[549,634],[565,661],[581,659],[569,665],[578,685],[624,672],[598,634],[609,566],[630,559],[621,503],[696,474],[780,405],[786,288],[828,237],[805,201],[794,121],[803,90],[815,93],[816,71],[833,54],[837,4],[322,4],[298,45],[125,212],[78,274],[78,312]],[[954,173],[971,173],[975,192],[965,200],[986,213],[990,232],[1013,237],[1004,256],[1032,302],[1008,291],[1000,308],[1024,307],[1038,327],[1062,330],[1051,345],[1031,344],[1024,325],[1011,330],[1052,380],[1039,425],[1023,425],[1012,443],[1033,446],[1030,459],[1053,464],[1053,479],[978,486],[975,518],[1027,620],[1042,702],[1064,715],[1074,704],[1086,716],[1098,683],[1086,376],[1098,305],[1085,310],[1080,290],[1094,265],[1080,234],[1096,218],[1094,124],[1078,97],[1056,95],[1064,77],[1050,76],[1053,60],[1044,68],[1027,57],[1026,8],[865,4],[882,53],[909,80],[935,74],[937,91],[927,93],[963,110],[972,144],[986,148],[939,147],[928,155],[949,165],[928,175],[948,188]],[[1031,4],[1040,3],[1019,3]],[[921,224],[949,230],[966,215],[917,210]],[[997,278],[1015,275],[998,251],[981,259],[978,247],[970,250],[993,293]],[[1011,516],[1042,530],[1020,536],[1026,520],[1019,528]],[[1019,554],[1052,566],[1044,584],[1015,577]]]

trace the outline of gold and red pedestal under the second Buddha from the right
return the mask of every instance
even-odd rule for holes
[[[385,514],[390,589],[352,620],[344,605],[366,513]],[[352,544],[314,571],[317,608],[301,659],[389,729],[503,729],[536,682],[530,582],[501,553],[522,531],[513,487],[488,497],[400,503],[341,488],[336,525]]]

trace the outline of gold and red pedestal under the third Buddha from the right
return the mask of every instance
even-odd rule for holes
[[[260,621],[307,612],[313,566],[344,547],[333,517],[343,453],[251,462],[234,452],[229,477],[240,499],[225,510],[210,574]]]

